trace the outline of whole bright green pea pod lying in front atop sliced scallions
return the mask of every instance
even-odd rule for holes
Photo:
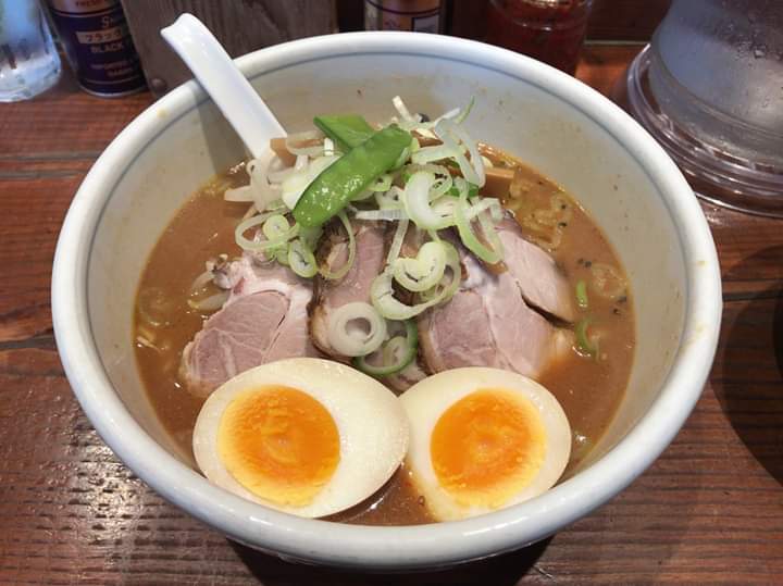
[[[410,146],[410,134],[396,124],[378,130],[313,179],[294,208],[294,217],[304,227],[325,224],[394,167]]]

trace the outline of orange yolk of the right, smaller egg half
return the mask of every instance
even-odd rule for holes
[[[440,487],[465,507],[502,507],[536,476],[545,456],[538,411],[504,389],[480,389],[453,403],[430,440]]]

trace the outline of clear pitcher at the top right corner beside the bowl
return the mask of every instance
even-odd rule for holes
[[[783,1],[673,0],[626,90],[699,196],[783,217]]]

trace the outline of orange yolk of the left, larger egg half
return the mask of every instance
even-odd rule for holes
[[[245,488],[293,507],[312,502],[340,459],[339,433],[326,408],[285,386],[237,395],[221,417],[217,450]]]

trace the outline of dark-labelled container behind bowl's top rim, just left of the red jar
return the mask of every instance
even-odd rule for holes
[[[365,30],[440,30],[440,0],[364,0]]]

